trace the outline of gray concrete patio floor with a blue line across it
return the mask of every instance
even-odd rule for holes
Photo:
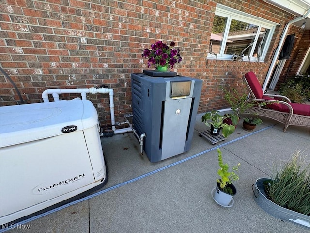
[[[241,120],[235,133],[212,145],[198,135],[207,130],[201,116],[191,149],[157,163],[140,156],[133,133],[102,138],[109,174],[102,189],[24,223],[29,229],[6,232],[309,232],[264,212],[251,187],[258,178],[272,176],[273,163],[287,161],[295,150],[309,161],[309,129],[289,126],[284,133],[283,124],[260,117],[263,124],[248,132]],[[231,208],[218,206],[211,196],[218,178],[216,148],[230,167],[241,163]]]

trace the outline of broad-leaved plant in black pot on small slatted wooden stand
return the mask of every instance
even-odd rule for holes
[[[236,129],[234,125],[223,123],[223,120],[228,117],[231,117],[234,123],[236,123],[238,120],[236,116],[222,116],[218,111],[212,110],[211,112],[208,112],[202,116],[202,122],[211,128],[211,135],[218,136],[220,130],[222,129],[223,136],[227,138]]]

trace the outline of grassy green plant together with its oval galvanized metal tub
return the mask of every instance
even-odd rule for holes
[[[259,178],[252,185],[254,200],[268,214],[310,229],[309,161],[295,151],[281,165],[274,164],[273,178]]]

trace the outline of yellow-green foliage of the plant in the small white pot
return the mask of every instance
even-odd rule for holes
[[[217,174],[220,176],[220,179],[217,179],[217,182],[220,183],[220,188],[223,192],[228,194],[233,194],[233,190],[230,187],[227,187],[228,184],[232,184],[232,181],[239,180],[238,168],[240,163],[236,166],[233,166],[233,170],[229,171],[228,164],[223,163],[222,151],[217,148],[218,154],[218,166],[220,167],[217,170]]]

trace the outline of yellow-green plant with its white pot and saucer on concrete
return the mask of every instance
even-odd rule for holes
[[[218,166],[217,174],[220,176],[220,179],[217,179],[217,186],[212,192],[213,199],[217,204],[223,207],[233,206],[233,196],[237,193],[233,181],[239,180],[238,168],[240,163],[236,166],[233,166],[233,170],[229,171],[229,166],[227,163],[224,164],[222,158],[222,152],[217,148],[218,154]]]

